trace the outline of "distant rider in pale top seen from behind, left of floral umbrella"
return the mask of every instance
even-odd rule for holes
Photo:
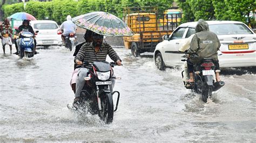
[[[63,41],[63,45],[65,45],[65,37],[67,35],[69,35],[70,33],[76,33],[76,24],[74,24],[72,21],[71,21],[71,16],[68,15],[66,17],[66,21],[62,23],[62,25],[60,25],[60,30],[63,30],[63,33],[62,33],[62,41]]]

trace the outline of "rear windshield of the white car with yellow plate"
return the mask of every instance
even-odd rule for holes
[[[209,25],[210,31],[217,35],[226,34],[252,34],[244,24],[213,24]]]

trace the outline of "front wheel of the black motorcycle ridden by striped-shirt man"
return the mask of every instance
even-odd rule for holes
[[[111,94],[100,96],[102,110],[99,111],[99,118],[106,124],[111,124],[114,116],[113,98]]]

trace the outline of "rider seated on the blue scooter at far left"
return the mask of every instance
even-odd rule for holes
[[[35,39],[35,32],[33,31],[33,28],[29,25],[29,20],[23,20],[23,23],[21,26],[18,27],[18,32],[19,32],[19,36],[21,35],[22,32],[31,32],[34,37],[34,43],[35,43],[35,54],[38,54],[38,52],[36,52],[36,39]],[[18,46],[19,51],[21,51],[21,45],[19,45],[19,40],[16,40],[16,45]]]

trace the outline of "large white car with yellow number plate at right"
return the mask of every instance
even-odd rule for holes
[[[246,24],[235,21],[206,21],[210,31],[220,40],[218,59],[220,68],[256,66],[256,34]],[[154,50],[158,69],[181,66],[179,48],[186,38],[195,33],[197,22],[181,24],[171,35],[165,35]]]

